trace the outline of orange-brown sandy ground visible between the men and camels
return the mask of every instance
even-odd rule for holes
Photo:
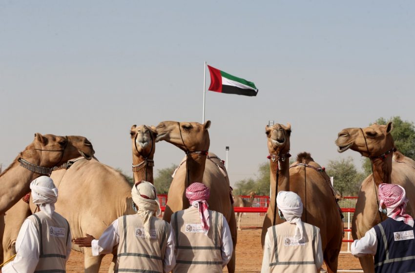
[[[347,244],[343,243],[343,250],[347,250]],[[100,273],[107,273],[111,261],[111,255],[104,257]],[[261,271],[262,249],[261,229],[243,229],[238,233],[236,245],[236,272],[259,273]],[[361,269],[359,260],[352,254],[340,254],[339,269]],[[83,272],[83,254],[72,251],[66,264],[66,272]],[[225,272],[227,272],[225,270]]]

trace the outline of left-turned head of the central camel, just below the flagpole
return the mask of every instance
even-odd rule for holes
[[[165,140],[185,152],[208,151],[210,120],[199,122],[162,121],[157,125],[156,141]]]

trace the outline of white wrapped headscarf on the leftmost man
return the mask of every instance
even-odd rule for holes
[[[58,189],[53,180],[48,176],[39,176],[30,183],[30,189],[33,204],[39,205],[41,211],[51,218],[58,200]]]

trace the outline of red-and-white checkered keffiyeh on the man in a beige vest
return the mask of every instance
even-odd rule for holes
[[[199,210],[200,220],[205,235],[207,235],[210,228],[209,211],[207,210],[207,199],[209,199],[209,196],[209,189],[199,182],[190,184],[186,189],[186,197],[189,199],[190,205],[197,207]]]

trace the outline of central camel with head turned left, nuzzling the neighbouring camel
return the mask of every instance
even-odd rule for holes
[[[210,120],[204,124],[163,121],[157,125],[156,141],[165,140],[186,152],[171,182],[163,219],[170,222],[170,217],[174,212],[188,208],[186,188],[193,182],[203,182],[210,190],[209,209],[222,213],[228,221],[233,241],[233,253],[227,267],[228,272],[234,273],[237,238],[235,213],[229,198],[229,179],[226,168],[216,155],[208,153],[210,139],[207,129],[209,127]]]

